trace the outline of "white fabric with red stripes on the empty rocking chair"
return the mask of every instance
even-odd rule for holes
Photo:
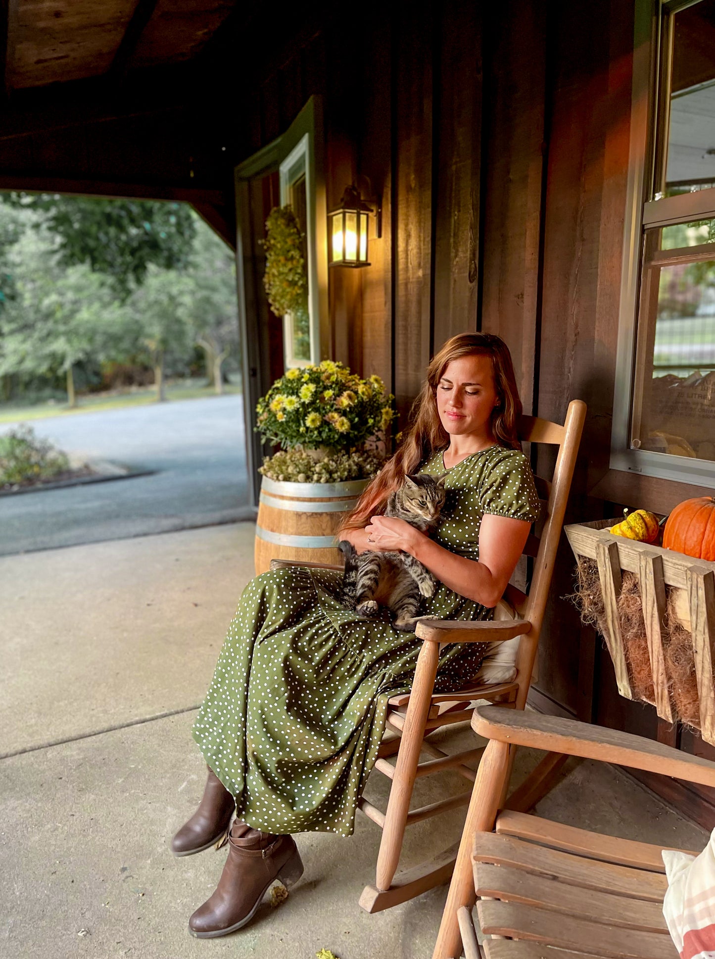
[[[663,916],[680,959],[715,959],[715,830],[698,856],[663,850]]]

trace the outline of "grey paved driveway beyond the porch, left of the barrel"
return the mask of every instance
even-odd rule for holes
[[[241,396],[77,413],[31,425],[67,453],[155,472],[0,498],[0,555],[250,515]]]

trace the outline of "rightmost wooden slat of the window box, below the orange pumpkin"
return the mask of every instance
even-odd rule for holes
[[[700,721],[703,739],[715,742],[715,688],[713,687],[713,644],[715,643],[715,573],[699,566],[685,571],[690,599],[695,675],[698,680]]]

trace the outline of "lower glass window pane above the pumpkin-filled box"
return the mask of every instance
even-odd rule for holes
[[[715,460],[715,259],[646,266],[632,445]]]

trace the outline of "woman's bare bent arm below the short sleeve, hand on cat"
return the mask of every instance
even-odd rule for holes
[[[364,530],[366,540],[368,536],[370,539],[365,543],[365,549],[404,550],[426,566],[448,589],[491,608],[496,606],[516,569],[530,528],[531,524],[525,520],[485,514],[479,527],[477,562],[445,550],[404,520],[373,516]],[[357,544],[354,545],[358,549]]]

